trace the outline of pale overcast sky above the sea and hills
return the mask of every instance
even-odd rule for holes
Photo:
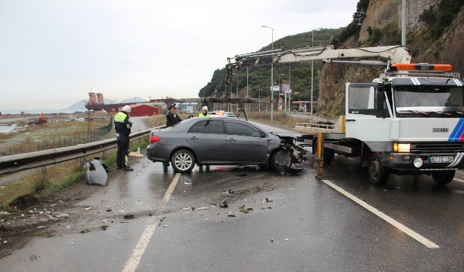
[[[0,112],[197,98],[227,57],[339,28],[358,0],[0,0]],[[314,34],[316,35],[316,33]]]

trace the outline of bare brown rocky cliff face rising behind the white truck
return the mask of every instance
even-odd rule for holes
[[[451,18],[451,24],[440,28],[438,35],[432,35],[432,26],[423,19],[420,20],[420,15],[427,10],[438,10],[440,1],[444,0],[407,1],[407,47],[418,50],[418,55],[413,57],[415,63],[452,64],[454,72],[464,75],[464,44],[461,42],[464,37],[464,9],[458,8]],[[349,37],[346,45],[359,47],[401,44],[401,14],[401,0],[369,1],[366,18],[359,32]],[[318,115],[335,117],[344,114],[345,82],[370,82],[380,73],[382,71],[360,66],[325,64],[319,76]]]

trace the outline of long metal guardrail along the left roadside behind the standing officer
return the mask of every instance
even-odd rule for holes
[[[165,125],[152,129],[162,129]],[[130,134],[130,141],[150,135],[152,129],[144,129]],[[23,170],[29,170],[46,165],[71,161],[75,158],[90,156],[99,152],[117,147],[116,138],[99,140],[98,142],[73,145],[71,147],[60,147],[44,151],[30,152],[11,156],[0,157],[0,174],[11,174]]]

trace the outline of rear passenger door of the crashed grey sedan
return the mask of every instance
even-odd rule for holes
[[[187,142],[197,154],[199,163],[226,159],[226,136],[222,120],[199,120],[187,133]]]

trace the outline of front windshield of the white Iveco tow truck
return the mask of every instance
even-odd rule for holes
[[[462,117],[464,115],[463,87],[395,86],[393,93],[397,116],[441,114]]]

